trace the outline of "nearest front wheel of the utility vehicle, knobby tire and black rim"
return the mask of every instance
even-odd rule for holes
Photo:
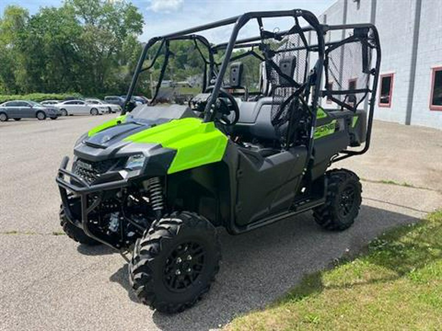
[[[137,240],[129,281],[139,300],[161,312],[193,306],[219,270],[214,226],[192,212],[174,212],[154,222]]]

